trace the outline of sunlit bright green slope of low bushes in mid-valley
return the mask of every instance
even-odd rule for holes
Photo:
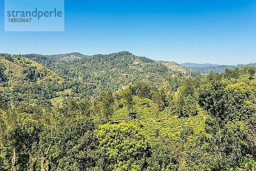
[[[134,113],[131,113],[131,123],[139,125],[143,132],[150,137],[157,133],[179,133],[182,128],[192,127],[195,130],[204,129],[207,115],[201,111],[197,116],[178,118],[172,107],[166,107],[160,113],[155,113],[154,103],[150,99],[134,97]],[[127,107],[114,112],[114,122],[128,122]]]

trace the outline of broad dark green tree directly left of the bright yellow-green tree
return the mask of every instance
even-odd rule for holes
[[[53,171],[91,171],[95,166],[95,125],[88,116],[58,113],[40,134],[40,145],[52,145]]]

